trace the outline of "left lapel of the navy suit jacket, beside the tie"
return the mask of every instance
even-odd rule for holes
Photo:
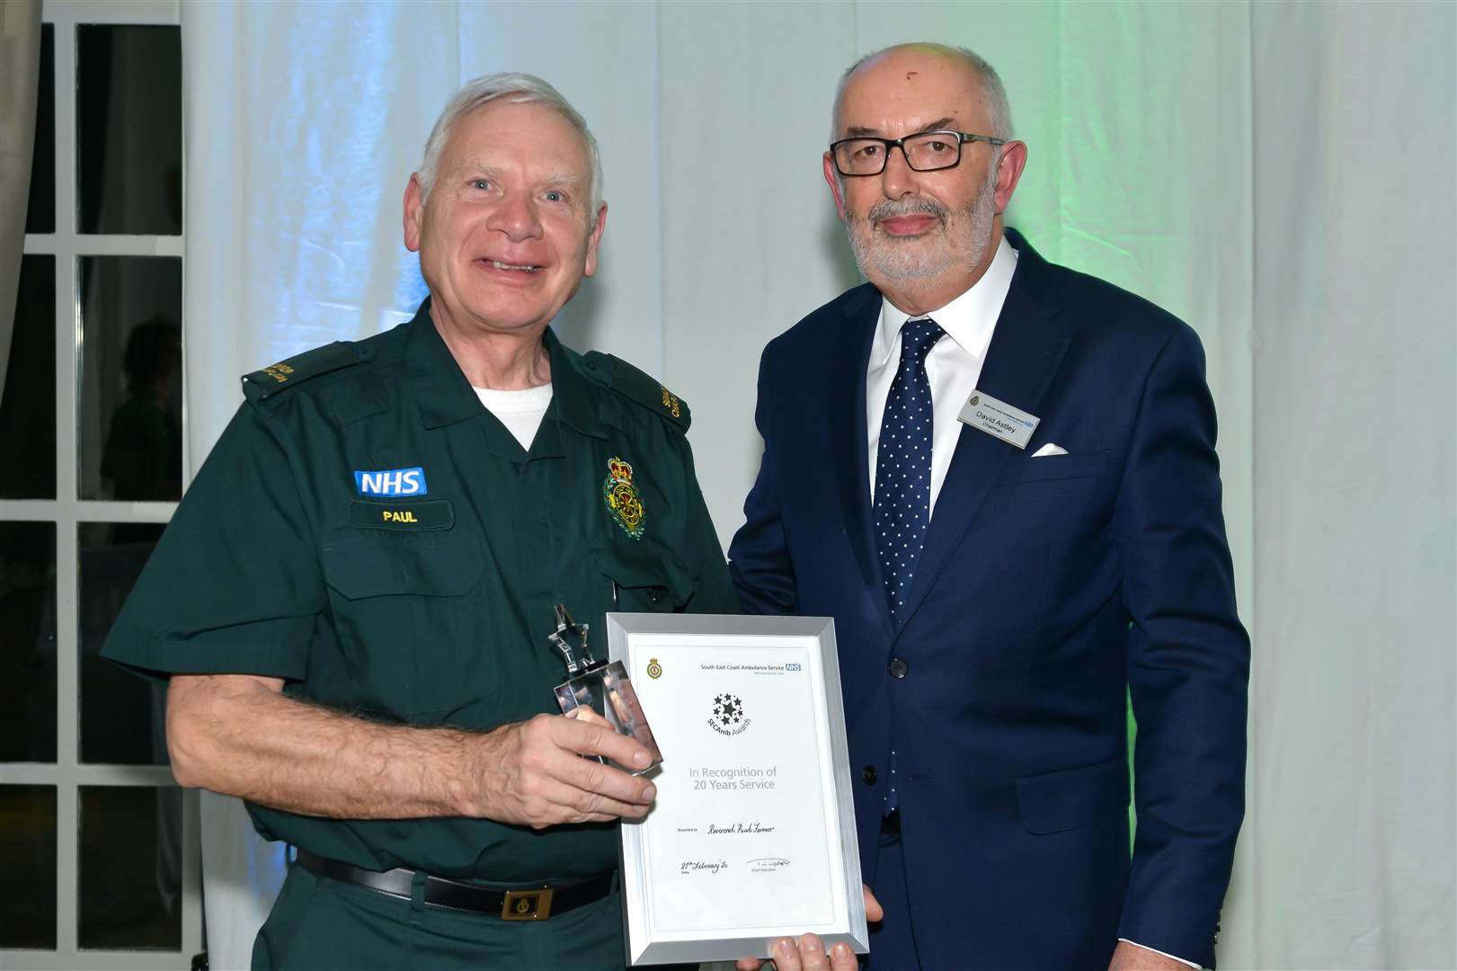
[[[860,287],[845,302],[844,338],[835,341],[829,370],[829,414],[835,483],[839,506],[845,516],[845,534],[855,554],[855,564],[871,589],[870,598],[879,607],[881,627],[890,634],[890,605],[873,542],[870,522],[870,456],[865,440],[865,367],[870,363],[870,341],[880,319],[880,293],[871,286]]]

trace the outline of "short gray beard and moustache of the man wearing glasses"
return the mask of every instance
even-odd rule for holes
[[[930,286],[954,267],[978,265],[992,241],[992,220],[997,219],[995,194],[997,166],[991,166],[986,182],[972,204],[963,210],[953,213],[931,198],[905,201],[887,198],[876,203],[864,219],[847,217],[845,235],[849,238],[849,249],[855,254],[860,273],[867,280],[887,280],[916,289],[916,283]],[[877,220],[911,214],[940,219],[941,225],[930,232],[941,235],[941,245],[927,251],[922,248],[925,236],[902,241],[876,227]]]

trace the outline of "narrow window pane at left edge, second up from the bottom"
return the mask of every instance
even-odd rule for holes
[[[0,522],[0,763],[54,763],[54,522]]]

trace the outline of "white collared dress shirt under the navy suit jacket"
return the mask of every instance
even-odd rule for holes
[[[946,306],[924,313],[941,325],[946,337],[938,340],[925,357],[925,376],[931,382],[931,510],[941,494],[946,469],[951,467],[956,439],[962,423],[956,416],[976,391],[982,375],[986,346],[1001,315],[1011,274],[1017,270],[1017,251],[1002,236],[992,262],[982,278]],[[870,436],[870,500],[876,500],[876,451],[880,448],[880,418],[886,411],[890,382],[900,366],[900,328],[911,315],[889,297],[880,302],[880,322],[870,343],[870,364],[865,369],[865,432]]]

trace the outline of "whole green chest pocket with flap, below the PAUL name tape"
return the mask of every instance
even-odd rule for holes
[[[338,653],[310,659],[310,694],[417,725],[488,700],[497,675],[481,649],[476,537],[350,529],[321,553]]]

